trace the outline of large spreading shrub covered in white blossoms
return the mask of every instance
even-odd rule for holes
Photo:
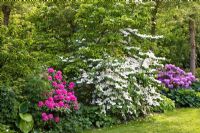
[[[152,52],[143,53],[135,47],[125,49],[127,53],[136,51],[137,54],[123,58],[107,54],[103,59],[78,57],[88,65],[88,69],[82,69],[81,78],[77,79],[79,85],[95,86],[91,104],[99,106],[101,113],[114,113],[124,119],[147,114],[151,106],[159,106],[157,100],[161,98],[156,92],[159,82],[154,73],[156,67],[162,66],[160,58]],[[74,63],[76,58],[71,56],[62,60]]]

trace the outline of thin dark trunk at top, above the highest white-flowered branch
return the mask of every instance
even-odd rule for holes
[[[152,10],[152,17],[151,17],[151,35],[156,35],[156,20],[157,20],[157,13],[158,13],[158,8],[159,8],[159,4],[160,1],[159,0],[155,0],[155,6]]]

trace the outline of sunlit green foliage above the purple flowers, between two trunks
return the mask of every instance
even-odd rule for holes
[[[190,58],[189,45],[189,16],[193,14],[195,23],[199,23],[200,3],[193,2],[168,2],[162,1],[157,14],[157,33],[164,35],[164,39],[158,42],[158,55],[163,55],[171,64],[188,68]],[[196,27],[199,31],[199,27]],[[199,40],[199,34],[196,34],[196,41]],[[197,56],[199,56],[199,46],[197,45]],[[171,52],[173,51],[173,52]],[[199,60],[197,62],[199,66]]]

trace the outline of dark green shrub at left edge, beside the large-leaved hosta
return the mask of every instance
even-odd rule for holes
[[[15,92],[6,86],[0,86],[0,123],[14,125],[18,116],[18,102]]]

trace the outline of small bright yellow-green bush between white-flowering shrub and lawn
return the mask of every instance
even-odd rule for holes
[[[164,95],[161,95],[162,100],[159,101],[160,106],[156,106],[152,108],[154,112],[166,112],[172,111],[175,109],[175,103],[173,100],[167,98]]]

